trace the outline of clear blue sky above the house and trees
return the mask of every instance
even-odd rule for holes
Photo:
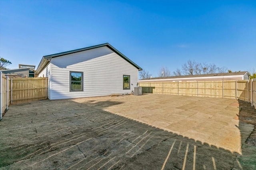
[[[249,70],[256,68],[256,1],[0,0],[8,68],[106,42],[153,76],[188,59]]]

